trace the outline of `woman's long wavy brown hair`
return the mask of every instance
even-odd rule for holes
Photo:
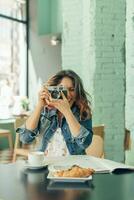
[[[76,105],[79,108],[81,119],[91,118],[91,103],[87,99],[87,96],[90,95],[84,90],[81,78],[74,71],[61,70],[48,81],[48,84],[50,86],[58,85],[65,77],[72,80],[76,93],[76,99],[73,105]]]

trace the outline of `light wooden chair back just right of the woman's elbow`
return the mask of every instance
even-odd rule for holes
[[[86,149],[86,154],[104,158],[104,125],[93,127],[93,139]]]

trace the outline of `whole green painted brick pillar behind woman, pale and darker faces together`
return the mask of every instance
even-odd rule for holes
[[[63,0],[63,68],[93,96],[93,124],[105,124],[106,157],[123,161],[125,0]]]

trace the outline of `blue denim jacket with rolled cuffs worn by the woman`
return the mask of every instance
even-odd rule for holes
[[[80,119],[80,111],[74,106],[72,112],[76,119],[80,123],[80,132],[78,136],[74,137],[69,129],[69,125],[63,117],[60,128],[66,142],[68,151],[71,155],[85,154],[85,149],[89,146],[92,141],[92,120],[91,119]],[[41,134],[41,141],[38,147],[39,151],[45,151],[49,140],[59,127],[58,116],[56,110],[44,109],[41,112],[39,123],[36,129],[28,130],[26,128],[18,128],[16,131],[20,133],[20,140],[23,143],[31,143],[36,136]]]

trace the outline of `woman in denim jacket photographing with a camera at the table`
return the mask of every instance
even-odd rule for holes
[[[50,86],[64,86],[59,99],[53,99]],[[19,128],[20,140],[32,142],[40,136],[38,150],[49,156],[80,155],[92,141],[89,102],[80,77],[71,70],[53,76],[39,92],[39,101],[26,127]]]

